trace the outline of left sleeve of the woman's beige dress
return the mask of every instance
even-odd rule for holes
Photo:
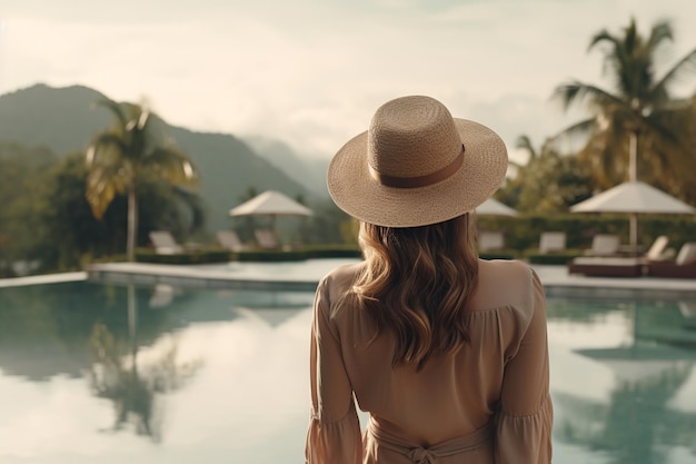
[[[311,414],[305,462],[359,464],[362,462],[360,424],[338,333],[329,323],[329,310],[327,284],[322,282],[317,288],[311,325]]]

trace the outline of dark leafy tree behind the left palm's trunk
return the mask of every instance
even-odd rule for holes
[[[126,250],[128,199],[116,196],[98,220],[84,197],[88,175],[84,152],[76,151],[46,169],[36,189],[37,198],[29,209],[36,245],[27,256],[41,263],[40,272],[79,269],[88,261]],[[139,240],[147,239],[149,230],[167,229],[181,236],[201,226],[202,205],[192,192],[162,182],[148,171],[138,176],[137,185]]]

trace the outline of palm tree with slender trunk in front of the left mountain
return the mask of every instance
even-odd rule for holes
[[[197,174],[188,157],[171,144],[157,140],[152,113],[141,105],[97,102],[110,110],[116,124],[98,134],[87,149],[87,200],[101,219],[116,196],[128,197],[126,254],[133,260],[138,229],[137,180],[149,171],[172,186],[192,185]]]

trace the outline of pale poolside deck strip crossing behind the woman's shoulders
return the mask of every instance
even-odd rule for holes
[[[96,264],[84,273],[0,279],[0,287],[90,280],[111,284],[167,284],[188,288],[248,288],[314,292],[331,268],[356,259],[310,259],[299,263],[228,263],[222,265],[157,265],[146,263]],[[622,297],[637,294],[690,295],[696,297],[696,279],[655,277],[586,277],[570,275],[566,266],[533,266],[549,294]]]

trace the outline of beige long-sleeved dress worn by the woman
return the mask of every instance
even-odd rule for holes
[[[546,304],[520,261],[480,260],[466,314],[470,343],[421,371],[392,368],[394,340],[368,314],[338,305],[361,264],[319,284],[311,332],[311,464],[547,464]],[[369,412],[364,430],[357,415]]]

